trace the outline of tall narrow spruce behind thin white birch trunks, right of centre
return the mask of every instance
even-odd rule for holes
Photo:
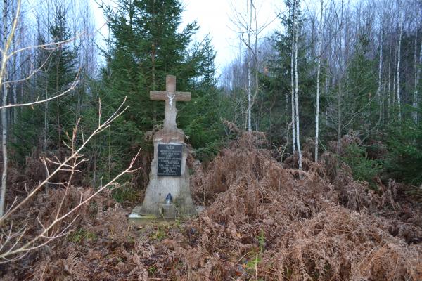
[[[280,136],[280,128],[286,128],[283,135],[287,134],[286,124],[291,122],[291,85],[290,85],[290,56],[292,53],[292,38],[293,38],[293,0],[286,0],[285,4],[288,7],[288,14],[280,15],[281,24],[285,27],[286,32],[275,32],[274,34],[274,48],[276,56],[269,62],[269,76],[263,77],[266,81],[266,89],[269,90],[269,104],[272,107],[271,124],[275,129],[274,135]],[[297,13],[299,12],[299,13]],[[300,104],[300,127],[302,133],[301,138],[312,136],[314,128],[314,89],[316,89],[314,79],[314,63],[309,56],[309,42],[305,41],[305,36],[301,30],[305,18],[299,11],[296,11],[296,29],[298,33],[298,85],[299,85],[299,104]],[[272,98],[271,98],[272,97]],[[276,103],[274,104],[274,101]],[[272,106],[271,106],[272,105]],[[291,137],[292,127],[290,125],[289,136]],[[283,140],[285,142],[287,140]]]

